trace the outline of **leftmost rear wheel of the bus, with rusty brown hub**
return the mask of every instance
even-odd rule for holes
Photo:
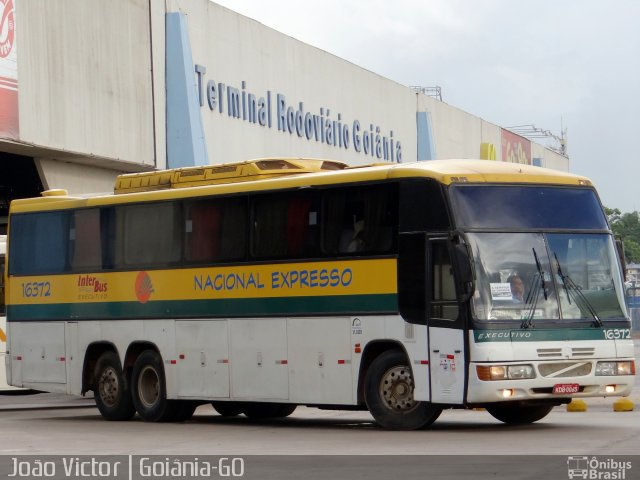
[[[122,374],[115,352],[104,352],[94,371],[94,397],[100,414],[106,420],[130,420],[136,409],[131,400],[127,380]]]

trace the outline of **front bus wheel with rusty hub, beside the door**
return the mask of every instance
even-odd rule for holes
[[[413,399],[413,374],[402,352],[388,351],[377,357],[364,380],[369,412],[381,427],[416,430],[431,425],[442,409]]]

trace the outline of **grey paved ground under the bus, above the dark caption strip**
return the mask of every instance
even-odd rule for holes
[[[367,412],[299,407],[289,418],[258,422],[223,418],[203,405],[185,423],[107,422],[91,398],[2,396],[0,454],[631,455],[640,453],[640,385],[630,398],[632,412],[614,412],[615,398],[592,398],[586,412],[556,407],[533,425],[448,410],[430,430],[392,432]]]

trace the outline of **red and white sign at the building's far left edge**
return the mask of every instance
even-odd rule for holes
[[[18,53],[13,0],[0,0],[0,137],[18,139]]]

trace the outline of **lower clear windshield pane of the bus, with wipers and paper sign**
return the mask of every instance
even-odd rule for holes
[[[608,234],[471,233],[478,320],[624,317],[622,280]]]

